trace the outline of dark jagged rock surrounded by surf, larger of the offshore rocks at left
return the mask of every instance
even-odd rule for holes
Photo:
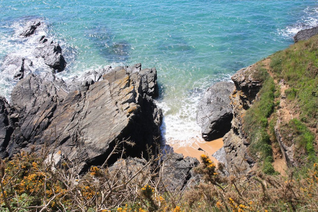
[[[40,47],[36,48],[36,56],[44,58],[45,64],[51,68],[59,72],[63,71],[66,66],[66,61],[62,55],[62,49],[59,43],[42,36],[39,40],[39,44]]]

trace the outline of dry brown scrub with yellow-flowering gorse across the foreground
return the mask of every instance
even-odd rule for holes
[[[154,163],[158,158],[150,160]],[[35,153],[1,160],[0,211],[316,211],[318,165],[306,177],[271,176],[261,171],[226,176],[221,163],[201,155],[190,186],[167,186],[152,164],[130,175],[125,164],[116,168],[92,166],[79,175],[80,161],[53,165]],[[70,167],[71,166],[71,167]],[[198,179],[201,179],[199,181]]]

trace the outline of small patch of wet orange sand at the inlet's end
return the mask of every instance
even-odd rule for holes
[[[205,154],[209,156],[214,163],[218,163],[218,160],[212,157],[216,151],[223,147],[222,138],[212,140],[212,141],[204,141],[202,138],[193,138],[191,143],[184,144],[180,146],[179,144],[184,144],[182,141],[175,141],[173,144],[169,144],[173,151],[179,154],[183,154],[184,157],[190,156],[197,158],[200,161],[200,155]],[[200,150],[199,150],[200,149]]]

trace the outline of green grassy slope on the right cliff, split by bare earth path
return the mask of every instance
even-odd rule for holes
[[[259,62],[259,74],[263,76],[264,84],[259,92],[258,101],[246,112],[243,130],[250,140],[249,151],[262,164],[266,174],[277,174],[271,162],[273,124],[269,117],[278,109],[275,97],[279,94],[279,85],[274,79],[284,79],[289,85],[285,91],[289,108],[299,116],[288,123],[281,123],[282,135],[289,142],[295,143],[295,155],[299,160],[307,158],[310,162],[316,160],[315,136],[317,139],[318,120],[318,36],[291,45],[283,51],[278,51],[270,57],[270,70],[266,70],[262,61]],[[274,79],[267,74],[272,72]]]

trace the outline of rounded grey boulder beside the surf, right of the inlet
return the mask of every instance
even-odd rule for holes
[[[208,88],[199,102],[197,123],[204,140],[221,138],[231,129],[233,114],[229,96],[234,88],[231,82],[218,82]]]

